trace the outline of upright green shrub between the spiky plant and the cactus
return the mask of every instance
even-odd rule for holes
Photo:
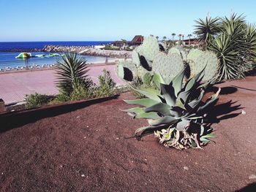
[[[102,74],[98,77],[99,85],[94,89],[94,96],[113,96],[115,94],[116,82],[113,81],[111,74],[103,69]]]

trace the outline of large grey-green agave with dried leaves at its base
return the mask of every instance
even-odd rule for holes
[[[154,74],[157,90],[140,88],[139,93],[145,99],[124,100],[127,104],[137,104],[128,112],[133,118],[148,119],[148,126],[138,128],[135,137],[141,139],[148,134],[155,134],[159,142],[166,147],[184,149],[201,148],[213,137],[212,129],[206,128],[207,108],[217,101],[219,91],[203,102],[203,96],[215,80],[200,83],[205,69],[184,82],[182,70],[171,82],[165,82],[161,74]]]

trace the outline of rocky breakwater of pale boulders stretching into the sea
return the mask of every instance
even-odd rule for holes
[[[101,50],[91,46],[61,46],[45,45],[42,49],[45,52],[72,52],[81,55],[94,55],[110,58],[132,58],[132,52],[126,50]]]

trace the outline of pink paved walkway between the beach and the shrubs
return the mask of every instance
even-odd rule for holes
[[[116,65],[98,65],[90,66],[89,76],[94,82],[97,82],[97,77],[102,73],[103,69],[111,72],[113,80],[117,85],[122,85],[122,82],[115,72]],[[11,72],[0,74],[0,98],[5,104],[23,101],[26,94],[30,93],[45,93],[56,94],[56,70],[39,70],[29,72]]]

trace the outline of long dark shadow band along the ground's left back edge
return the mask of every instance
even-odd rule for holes
[[[23,110],[20,112],[8,112],[0,114],[0,133],[9,131],[12,128],[24,126],[28,123],[34,123],[42,118],[51,118],[67,112],[80,110],[84,107],[89,107],[91,104],[99,104],[101,102],[117,98],[118,95],[98,99],[89,99],[85,101],[73,101],[53,106],[39,107],[33,110]]]

